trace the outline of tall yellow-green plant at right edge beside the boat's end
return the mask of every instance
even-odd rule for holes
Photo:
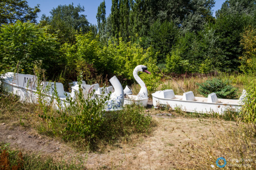
[[[244,105],[240,116],[242,121],[256,123],[256,83],[252,80],[246,87],[246,95],[243,98]]]

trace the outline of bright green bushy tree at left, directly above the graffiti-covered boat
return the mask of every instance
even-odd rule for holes
[[[0,70],[16,69],[25,74],[33,74],[33,61],[42,60],[43,69],[58,73],[62,60],[58,55],[59,43],[56,37],[46,32],[47,28],[29,22],[17,21],[4,24],[0,31]],[[0,72],[1,72],[0,71]]]

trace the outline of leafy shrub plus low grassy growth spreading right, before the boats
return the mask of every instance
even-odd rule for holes
[[[140,106],[127,106],[119,112],[106,112],[105,102],[109,96],[85,94],[81,87],[75,98],[67,97],[69,104],[65,108],[43,113],[39,117],[47,122],[53,134],[60,135],[65,141],[78,145],[95,147],[98,141],[112,141],[131,133],[147,133],[151,127],[151,117],[144,116]],[[55,96],[57,103],[58,96]],[[58,104],[58,106],[61,106]]]

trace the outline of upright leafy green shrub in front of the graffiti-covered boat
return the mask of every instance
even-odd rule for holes
[[[109,96],[94,96],[93,90],[85,93],[81,84],[82,75],[79,78],[79,91],[76,91],[76,97],[67,97],[65,108],[61,107],[58,95],[55,94],[59,106],[58,113],[39,115],[41,118],[48,119],[54,133],[62,134],[67,141],[95,140],[100,135],[100,127],[105,121],[105,101]]]

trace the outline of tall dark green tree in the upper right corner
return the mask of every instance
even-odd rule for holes
[[[242,33],[248,25],[255,25],[255,9],[255,0],[227,0],[216,12],[216,24],[213,27],[216,36],[219,37],[218,44],[222,49],[222,55],[225,57],[225,71],[238,70],[240,66],[239,57],[243,53],[240,46]]]

